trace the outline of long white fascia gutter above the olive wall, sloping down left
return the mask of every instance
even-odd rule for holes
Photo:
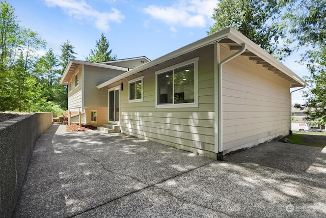
[[[116,76],[116,77],[110,79],[110,80],[107,80],[105,83],[102,83],[102,84],[98,85],[96,88],[101,89],[101,88],[103,88],[105,86],[113,84],[116,81],[124,79],[124,78],[126,78],[128,76],[131,76],[131,75],[135,74],[135,73],[141,72],[143,70],[146,70],[146,69],[148,69],[150,67],[153,67],[155,65],[158,65],[160,63],[163,63],[163,62],[169,61],[171,59],[177,58],[177,57],[179,57],[181,55],[184,55],[185,53],[196,50],[196,49],[201,48],[201,47],[203,47],[205,45],[218,42],[218,41],[220,41],[220,40],[222,40],[224,38],[227,38],[229,31],[230,31],[230,28],[227,28],[227,29],[224,29],[224,30],[216,33],[216,34],[212,34],[212,35],[207,36],[207,37],[205,37],[203,39],[200,39],[200,40],[198,40],[198,41],[196,41],[194,43],[188,44],[188,45],[186,45],[184,47],[181,47],[181,48],[179,48],[179,49],[177,49],[175,51],[172,51],[172,52],[168,53],[167,55],[164,55],[164,56],[162,56],[160,58],[157,58],[157,59],[155,59],[153,61],[147,62],[147,63],[145,63],[145,64],[143,64],[143,65],[141,65],[139,67],[136,67],[136,68],[134,68],[134,69],[132,69],[132,70],[126,72],[126,73],[123,73],[123,74],[121,74],[119,76]]]

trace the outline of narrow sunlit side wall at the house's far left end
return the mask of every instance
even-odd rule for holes
[[[79,84],[75,86],[75,74],[72,76],[71,79],[71,91],[69,91],[68,85],[68,109],[72,108],[82,108],[82,83],[83,83],[83,73],[82,67],[79,67],[75,73],[79,71]]]

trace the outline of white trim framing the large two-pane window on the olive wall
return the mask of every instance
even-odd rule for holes
[[[185,108],[185,107],[198,107],[198,60],[199,57],[193,58],[193,59],[189,59],[187,61],[181,62],[179,64],[175,64],[173,66],[164,68],[164,69],[160,69],[158,71],[155,71],[155,108]],[[157,98],[158,98],[158,90],[157,90],[157,75],[161,74],[161,73],[165,73],[167,71],[171,71],[175,68],[178,67],[182,67],[188,64],[195,64],[195,102],[194,103],[180,103],[180,104],[158,104],[157,102]],[[174,89],[174,85],[173,85],[173,89]],[[174,91],[174,90],[173,90]]]

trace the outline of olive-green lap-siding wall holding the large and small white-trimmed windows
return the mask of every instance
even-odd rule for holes
[[[213,45],[162,63],[122,81],[121,131],[215,158],[214,151],[214,66]],[[192,108],[155,108],[155,71],[199,57],[198,101]],[[128,81],[144,76],[144,101],[128,103]],[[112,84],[110,88],[118,86]]]

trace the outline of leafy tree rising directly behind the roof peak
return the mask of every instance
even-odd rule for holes
[[[275,0],[221,0],[214,8],[215,23],[208,34],[232,26],[243,35],[260,45],[270,54],[281,58],[287,48],[279,45],[285,38],[280,12],[284,3]]]

